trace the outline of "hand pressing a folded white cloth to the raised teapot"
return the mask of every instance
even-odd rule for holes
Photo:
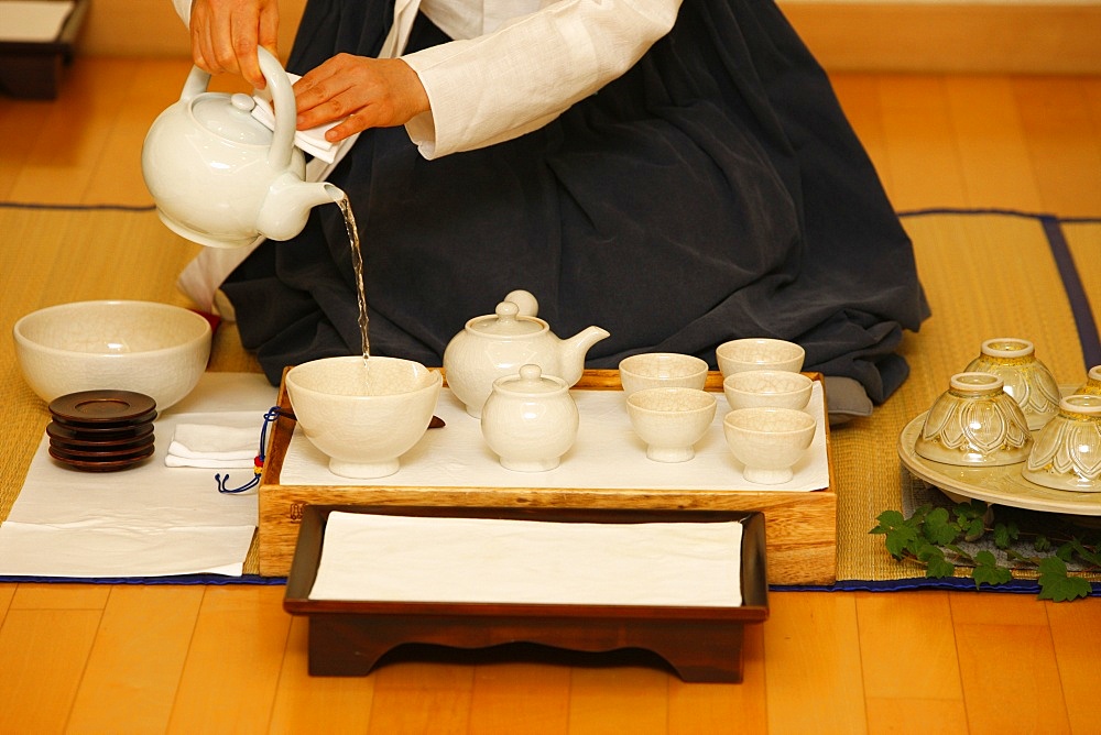
[[[429,109],[421,78],[400,58],[339,54],[295,83],[294,94],[299,130],[344,120],[325,133],[330,143],[403,125]]]

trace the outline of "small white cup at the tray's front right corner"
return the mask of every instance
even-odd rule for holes
[[[722,432],[742,476],[777,485],[795,476],[793,468],[815,438],[816,421],[794,408],[738,408],[722,419]]]

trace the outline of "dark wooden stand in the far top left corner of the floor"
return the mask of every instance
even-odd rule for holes
[[[0,41],[0,91],[25,99],[54,99],[62,72],[73,61],[89,0],[77,0],[56,39],[45,43]],[[0,3],[2,8],[2,3]]]

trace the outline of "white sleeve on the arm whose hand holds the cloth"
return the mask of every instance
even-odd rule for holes
[[[432,107],[405,128],[425,158],[537,130],[625,73],[680,0],[560,0],[498,31],[402,56]]]

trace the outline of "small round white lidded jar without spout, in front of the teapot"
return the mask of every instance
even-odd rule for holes
[[[562,462],[577,440],[579,417],[569,386],[544,375],[538,365],[524,365],[519,375],[493,381],[493,392],[481,410],[486,443],[501,465],[517,472],[545,472]]]

